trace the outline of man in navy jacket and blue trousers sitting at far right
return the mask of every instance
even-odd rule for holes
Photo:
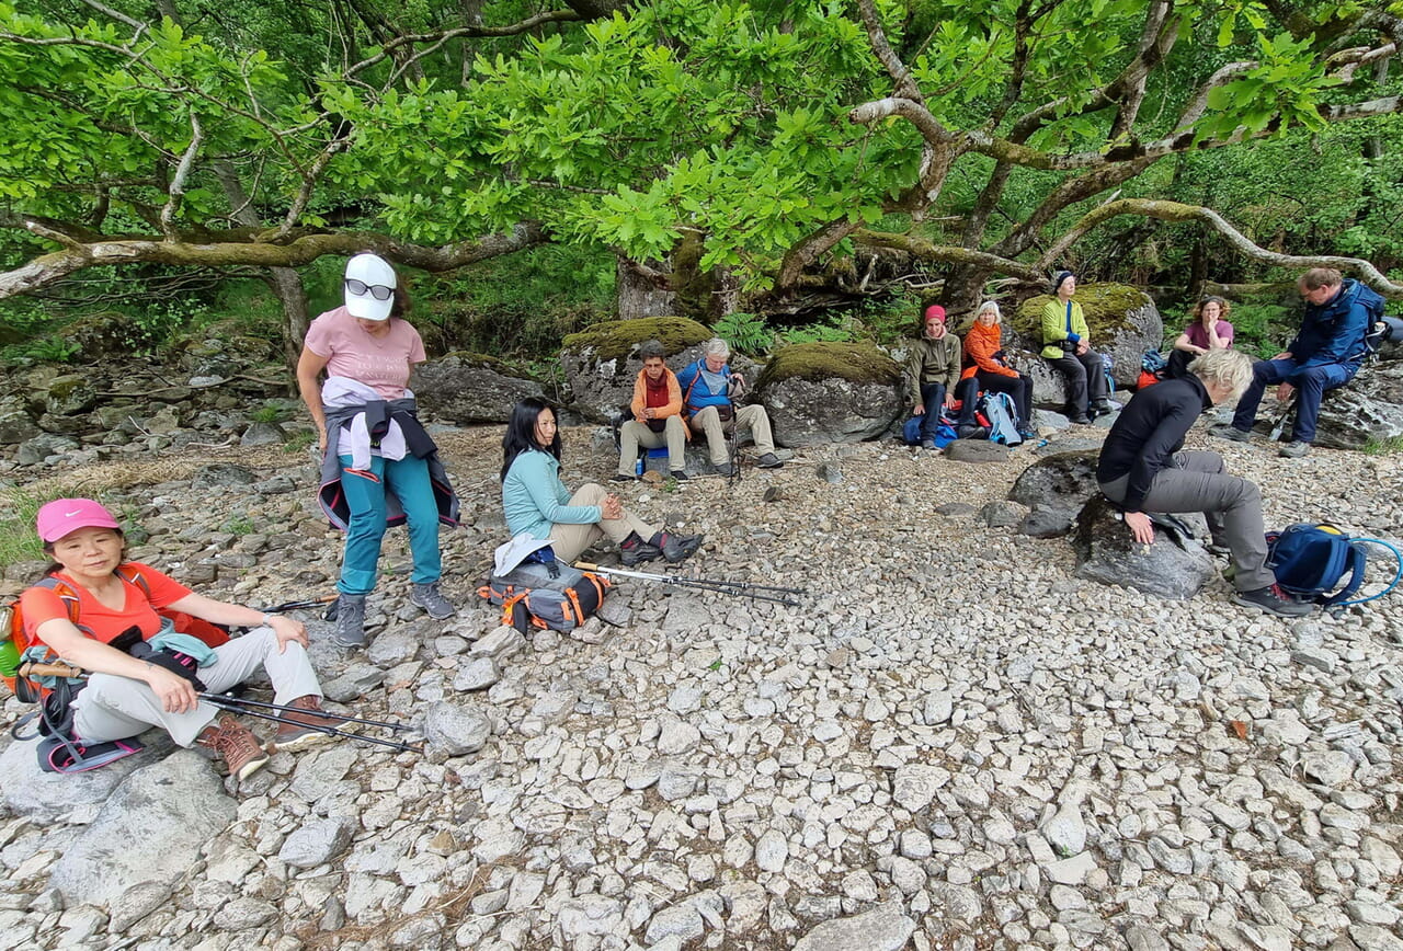
[[[1296,425],[1291,443],[1281,447],[1281,454],[1288,459],[1310,452],[1320,396],[1344,386],[1360,372],[1365,355],[1364,338],[1374,317],[1383,310],[1383,297],[1354,278],[1341,278],[1334,268],[1310,268],[1301,275],[1296,289],[1306,302],[1301,331],[1285,351],[1253,365],[1251,386],[1237,401],[1232,425],[1212,429],[1221,439],[1247,442],[1267,386],[1281,384],[1278,400],[1288,398],[1295,387],[1301,393]]]

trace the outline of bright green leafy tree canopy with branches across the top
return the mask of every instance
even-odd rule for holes
[[[954,300],[1145,222],[1403,296],[1400,36],[1382,0],[0,3],[0,297],[581,243],[732,300],[899,254]]]

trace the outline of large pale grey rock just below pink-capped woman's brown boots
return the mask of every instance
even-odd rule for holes
[[[178,750],[116,787],[59,858],[51,882],[70,908],[109,906],[142,882],[174,885],[237,814],[210,764]]]

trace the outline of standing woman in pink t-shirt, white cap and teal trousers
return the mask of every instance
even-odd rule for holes
[[[453,605],[438,586],[438,525],[457,525],[457,499],[408,390],[410,370],[427,356],[419,332],[404,320],[410,300],[394,268],[373,254],[358,254],[347,264],[344,288],[345,306],[307,328],[297,387],[323,450],[321,506],[347,533],[335,638],[361,647],[365,602],[375,589],[389,525],[410,526],[410,600],[431,617],[452,617]],[[327,379],[318,387],[323,370]]]

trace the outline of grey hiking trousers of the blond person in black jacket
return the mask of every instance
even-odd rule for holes
[[[1141,509],[1145,512],[1202,512],[1214,541],[1232,553],[1233,585],[1257,591],[1277,584],[1267,567],[1267,533],[1261,526],[1261,492],[1257,484],[1229,476],[1223,459],[1214,452],[1174,453],[1173,468],[1162,468]],[[1125,501],[1129,476],[1101,483],[1113,502]]]

